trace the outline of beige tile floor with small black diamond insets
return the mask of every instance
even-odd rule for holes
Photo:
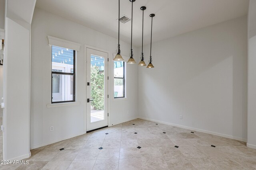
[[[244,142],[142,119],[34,149],[31,153],[26,159],[28,165],[2,165],[0,169],[256,169],[256,150],[246,147]]]

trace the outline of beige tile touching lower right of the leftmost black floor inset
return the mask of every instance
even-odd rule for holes
[[[78,149],[64,149],[61,150],[54,158],[52,158],[53,161],[58,160],[74,160],[76,155],[78,154]]]

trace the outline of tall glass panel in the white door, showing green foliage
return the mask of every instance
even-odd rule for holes
[[[91,123],[104,120],[104,90],[105,90],[105,75],[104,75],[104,57],[91,55],[91,99],[90,102],[90,117]]]

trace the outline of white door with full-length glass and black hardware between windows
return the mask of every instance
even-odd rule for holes
[[[86,131],[108,125],[108,53],[86,48]]]

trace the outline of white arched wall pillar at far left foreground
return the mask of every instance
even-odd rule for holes
[[[35,3],[6,0],[3,160],[20,160],[31,154],[30,23]]]

